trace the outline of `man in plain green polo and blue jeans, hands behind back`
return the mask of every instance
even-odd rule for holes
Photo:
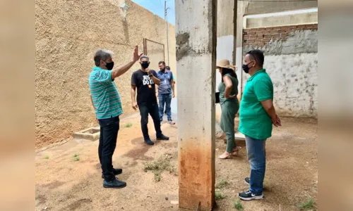
[[[249,191],[239,193],[242,200],[263,198],[263,179],[265,177],[265,141],[270,138],[273,125],[281,126],[280,118],[273,106],[273,83],[263,69],[264,56],[260,50],[246,53],[244,72],[249,77],[241,97],[239,109],[239,132],[245,135],[246,153],[250,162],[250,177],[245,181]]]

